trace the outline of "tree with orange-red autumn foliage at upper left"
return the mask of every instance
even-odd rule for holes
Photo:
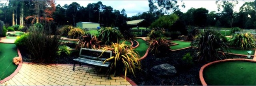
[[[33,24],[35,21],[36,23],[40,23],[40,22],[52,22],[53,16],[52,14],[55,12],[56,8],[55,8],[55,2],[54,0],[49,0],[49,1],[34,1],[34,6],[35,8],[33,10],[35,10],[35,15],[32,16],[27,16],[26,20],[31,19],[32,21],[31,23]]]

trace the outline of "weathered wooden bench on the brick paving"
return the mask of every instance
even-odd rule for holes
[[[75,70],[75,62],[79,62],[80,66],[81,66],[81,63],[86,63],[90,65],[104,66],[104,67],[110,68],[110,62],[105,62],[103,64],[103,62],[110,57],[112,57],[112,51],[102,51],[102,50],[81,48],[79,52],[79,57],[76,59],[73,59],[74,60],[73,71]],[[109,79],[110,79],[110,70],[108,73]]]

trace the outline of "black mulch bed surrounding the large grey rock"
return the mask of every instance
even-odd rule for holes
[[[192,52],[192,49],[170,52],[165,57],[157,57],[149,54],[141,61],[142,70],[136,72],[136,78],[133,75],[128,76],[137,85],[202,85],[199,79],[199,70],[204,64],[185,65],[182,61],[184,54]],[[174,76],[156,76],[150,69],[153,66],[168,63],[174,66],[177,74]]]

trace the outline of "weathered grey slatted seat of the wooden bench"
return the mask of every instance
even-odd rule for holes
[[[81,58],[78,57],[77,59],[73,59],[74,61],[78,61],[78,62],[82,62],[82,63],[88,63],[91,65],[97,65],[97,66],[105,66],[108,67],[110,65],[109,62],[106,62],[103,64],[103,61],[96,61],[96,60],[91,60],[91,59],[85,59],[85,58]]]

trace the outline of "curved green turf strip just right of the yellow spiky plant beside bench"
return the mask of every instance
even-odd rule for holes
[[[137,51],[140,55],[140,57],[143,57],[148,49],[148,44],[146,41],[144,41],[143,39],[135,39],[136,41],[138,41],[140,43],[140,45],[138,47],[136,47],[134,50]]]

